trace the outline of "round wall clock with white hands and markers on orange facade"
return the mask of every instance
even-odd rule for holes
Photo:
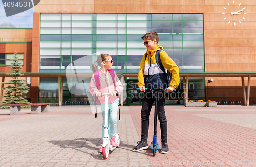
[[[236,24],[241,24],[242,20],[245,20],[245,15],[247,13],[245,13],[245,7],[241,6],[241,3],[233,1],[232,3],[227,3],[227,6],[223,7],[223,9],[225,12],[222,14],[224,15],[224,20],[227,20],[228,24],[233,23],[233,25],[236,26]]]

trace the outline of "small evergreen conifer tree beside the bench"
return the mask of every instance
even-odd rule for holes
[[[28,93],[29,87],[25,82],[26,80],[19,79],[23,74],[20,73],[22,63],[18,60],[17,52],[14,53],[12,61],[12,65],[9,67],[12,73],[6,73],[7,75],[11,75],[12,79],[9,82],[4,82],[8,86],[3,88],[6,91],[4,95],[6,99],[2,101],[2,104],[26,104],[26,107],[28,107],[29,102],[27,99],[24,99],[26,96],[23,94]]]

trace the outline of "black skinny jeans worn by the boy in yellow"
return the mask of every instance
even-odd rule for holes
[[[149,116],[153,103],[155,102],[155,97],[150,91],[143,92],[144,96],[142,99],[142,109],[141,109],[141,141],[147,142],[148,137],[148,126],[149,126]],[[165,105],[165,91],[158,92],[157,94],[157,117],[160,121],[161,128],[161,142],[167,143],[167,120],[164,111]],[[154,114],[154,111],[153,111]]]

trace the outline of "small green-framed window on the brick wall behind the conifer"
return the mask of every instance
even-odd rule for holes
[[[14,53],[0,53],[0,66],[11,66]],[[21,65],[24,65],[24,53],[18,53]]]

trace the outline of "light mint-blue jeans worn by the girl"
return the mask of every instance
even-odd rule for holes
[[[117,122],[117,109],[118,102],[113,102],[108,104],[108,132],[110,132],[110,138],[116,136],[116,122]],[[104,138],[104,123],[105,123],[105,104],[101,104],[101,113],[103,117],[102,122],[102,140]],[[110,126],[109,126],[110,125]]]

